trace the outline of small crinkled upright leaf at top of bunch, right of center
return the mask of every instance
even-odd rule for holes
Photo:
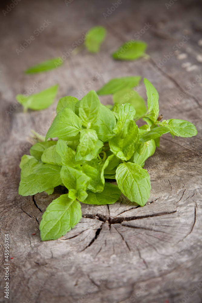
[[[135,115],[135,109],[133,105],[126,103],[121,106],[121,109],[118,113],[118,121],[116,127],[113,129],[114,133],[120,132],[121,128],[124,126],[126,120],[133,120]]]

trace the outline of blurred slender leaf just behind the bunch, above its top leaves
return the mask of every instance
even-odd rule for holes
[[[109,95],[114,94],[121,89],[133,88],[139,85],[141,76],[135,77],[122,77],[111,79],[107,84],[105,84],[101,89],[98,90],[98,95]]]

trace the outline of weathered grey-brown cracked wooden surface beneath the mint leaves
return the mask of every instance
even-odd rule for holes
[[[115,1],[114,1],[115,3]],[[169,1],[167,2],[169,3]],[[201,2],[181,1],[166,8],[164,1],[123,1],[106,19],[108,1],[22,1],[6,16],[1,12],[1,295],[12,303],[178,303],[202,302],[201,115],[202,46]],[[6,8],[3,3],[2,9]],[[35,29],[50,25],[17,55],[16,48]],[[141,39],[150,59],[114,61],[110,54],[135,33],[151,25]],[[82,50],[65,59],[62,67],[41,74],[23,71],[43,60],[63,55],[94,25],[108,34],[97,55]],[[161,68],[155,65],[174,45],[188,41]],[[182,55],[186,54],[186,55]],[[187,58],[185,58],[187,56]],[[168,58],[168,57],[167,57]],[[164,60],[165,61],[165,60]],[[189,63],[187,63],[189,62]],[[187,67],[184,67],[187,66]],[[96,73],[100,76],[91,81]],[[160,95],[164,119],[193,122],[198,135],[164,135],[146,161],[151,176],[151,198],[143,208],[121,197],[114,205],[82,204],[83,218],[56,241],[40,240],[41,215],[52,196],[18,195],[19,162],[29,153],[31,129],[45,135],[59,98],[97,90],[114,77],[141,75]],[[94,81],[94,80],[93,80]],[[194,84],[189,91],[187,85]],[[35,92],[59,84],[57,100],[41,112],[22,112],[15,95],[38,83]],[[178,102],[178,94],[186,90]],[[140,94],[146,98],[141,82]],[[102,97],[104,104],[111,97]],[[11,106],[11,107],[10,107]],[[4,234],[10,241],[10,295],[4,298]],[[36,235],[32,235],[36,233]]]

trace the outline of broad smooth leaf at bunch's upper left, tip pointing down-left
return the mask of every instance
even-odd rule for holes
[[[63,108],[55,117],[51,127],[46,134],[48,138],[58,137],[59,139],[75,141],[79,139],[81,131],[81,120],[70,108]]]

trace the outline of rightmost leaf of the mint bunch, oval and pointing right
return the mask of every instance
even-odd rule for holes
[[[191,122],[180,119],[169,119],[165,122],[171,135],[177,137],[192,137],[197,135],[197,129]]]

